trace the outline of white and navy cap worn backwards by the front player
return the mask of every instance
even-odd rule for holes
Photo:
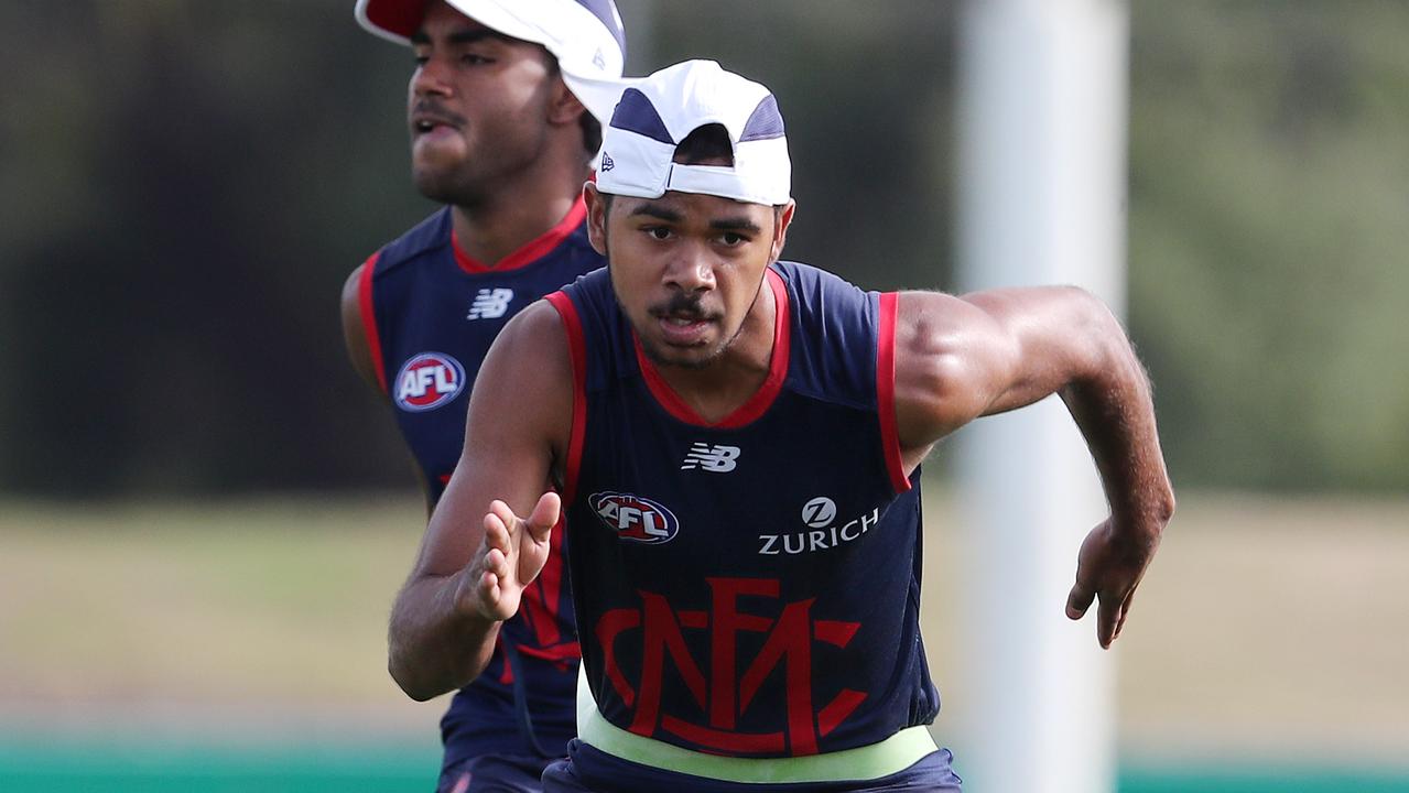
[[[706,124],[728,131],[733,166],[674,162],[679,142]],[[792,162],[778,101],[762,85],[713,61],[661,69],[626,89],[602,131],[597,190],[637,199],[679,190],[785,204],[792,192]]]

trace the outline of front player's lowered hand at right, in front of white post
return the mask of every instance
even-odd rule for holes
[[[1160,534],[1117,531],[1113,518],[1091,530],[1076,556],[1076,583],[1067,597],[1067,617],[1081,620],[1093,599],[1096,641],[1109,649],[1130,616],[1130,601],[1150,559],[1160,547]]]

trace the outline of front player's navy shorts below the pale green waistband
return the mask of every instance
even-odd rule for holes
[[[960,793],[960,778],[948,749],[936,749],[910,768],[861,782],[803,782],[751,785],[720,782],[651,768],[593,749],[582,741],[568,744],[568,758],[542,772],[544,793]]]

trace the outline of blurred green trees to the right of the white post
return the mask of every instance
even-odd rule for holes
[[[1409,486],[1409,4],[1134,6],[1130,320],[1188,483]]]

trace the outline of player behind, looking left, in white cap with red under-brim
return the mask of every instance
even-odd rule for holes
[[[603,265],[582,183],[621,90],[624,34],[612,0],[359,0],[355,14],[410,46],[411,176],[445,206],[352,272],[342,327],[433,508],[490,342],[526,306]],[[441,721],[440,789],[537,790],[575,735],[579,658],[555,548]]]

